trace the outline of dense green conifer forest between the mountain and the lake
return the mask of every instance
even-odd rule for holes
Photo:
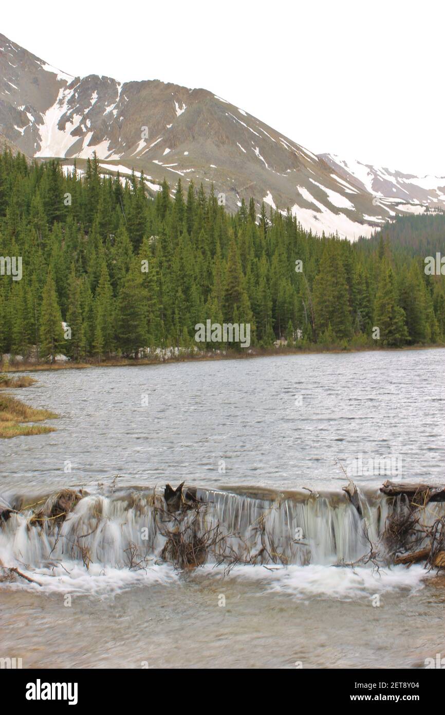
[[[264,204],[257,216],[253,199],[232,216],[191,182],[152,199],[144,177],[103,177],[96,157],[80,177],[5,151],[0,257],[21,257],[22,275],[3,261],[0,354],[192,347],[206,320],[250,323],[264,347],[442,342],[445,277],[400,251],[383,237],[372,248],[316,237]]]

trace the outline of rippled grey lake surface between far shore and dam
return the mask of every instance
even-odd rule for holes
[[[340,488],[334,459],[359,454],[401,455],[403,478],[441,478],[444,365],[445,350],[413,350],[35,373],[19,396],[59,413],[57,431],[2,440],[0,488],[116,474]]]

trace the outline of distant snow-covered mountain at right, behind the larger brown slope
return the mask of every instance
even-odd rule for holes
[[[431,209],[445,209],[445,177],[404,174],[396,169],[374,167],[362,164],[356,159],[344,159],[337,154],[319,154],[319,158],[346,181],[361,191],[374,194],[375,197],[392,199],[398,203],[409,202],[422,204]],[[421,206],[405,207],[413,213],[421,213]]]

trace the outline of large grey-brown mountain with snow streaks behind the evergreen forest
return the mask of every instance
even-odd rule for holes
[[[406,211],[410,196],[377,200],[330,155],[318,157],[206,89],[159,80],[73,77],[0,34],[0,132],[29,157],[82,169],[96,152],[104,173],[144,172],[151,192],[164,177],[214,184],[236,211],[241,199],[285,212],[306,229],[355,240]],[[347,175],[346,175],[347,174]],[[385,184],[386,186],[386,184]]]

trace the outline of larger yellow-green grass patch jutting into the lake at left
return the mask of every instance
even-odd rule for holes
[[[42,422],[54,420],[58,417],[50,410],[24,405],[20,400],[10,395],[0,395],[0,438],[19,437],[21,435],[41,435],[54,432],[53,427],[43,425],[24,425],[21,423]]]

